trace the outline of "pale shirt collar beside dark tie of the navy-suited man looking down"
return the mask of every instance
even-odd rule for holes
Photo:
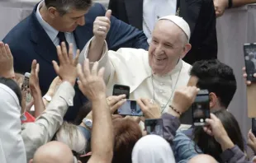
[[[59,38],[57,37],[57,35],[59,34],[58,30],[55,30],[55,28],[53,28],[52,26],[50,26],[40,15],[40,7],[42,7],[45,1],[41,1],[39,3],[39,5],[37,6],[37,10],[36,10],[36,18],[40,23],[40,26],[43,27],[43,29],[45,30],[45,32],[47,33],[47,35],[50,37],[50,40],[52,40],[52,42],[55,44],[55,46],[59,45]],[[77,52],[77,44],[75,42],[74,36],[73,36],[73,32],[64,32],[65,33],[65,37],[67,42],[70,44],[73,44],[73,57],[75,57],[75,54]]]

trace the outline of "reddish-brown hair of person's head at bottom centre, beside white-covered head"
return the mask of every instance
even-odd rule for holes
[[[115,144],[112,163],[131,163],[132,149],[142,137],[139,124],[131,119],[115,119],[113,128]]]

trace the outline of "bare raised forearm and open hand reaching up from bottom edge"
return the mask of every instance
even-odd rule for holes
[[[89,61],[86,59],[83,71],[81,65],[77,68],[79,89],[92,101],[92,157],[88,162],[110,163],[113,156],[113,127],[103,81],[104,68],[97,72],[97,67],[96,62],[90,71]]]

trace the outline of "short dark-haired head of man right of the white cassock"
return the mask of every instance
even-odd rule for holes
[[[187,85],[214,93],[220,107],[227,109],[236,91],[235,75],[230,66],[217,59],[201,60],[192,65],[190,75]]]

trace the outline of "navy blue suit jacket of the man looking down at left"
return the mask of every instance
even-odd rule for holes
[[[40,63],[40,89],[45,94],[51,81],[56,77],[51,62],[52,60],[58,62],[59,59],[55,44],[36,19],[36,7],[31,15],[15,26],[2,41],[10,45],[16,72],[30,72],[33,59]],[[85,16],[86,25],[78,26],[73,31],[78,49],[82,50],[88,40],[92,38],[93,21],[97,16],[105,16],[105,12],[106,10],[101,4],[93,4]],[[114,16],[111,16],[111,28],[106,40],[108,48],[113,50],[121,47],[148,49],[149,46],[142,31],[117,20]],[[75,86],[75,89],[74,107],[68,110],[65,117],[67,120],[73,120],[82,105],[83,95],[78,91],[77,86]]]

